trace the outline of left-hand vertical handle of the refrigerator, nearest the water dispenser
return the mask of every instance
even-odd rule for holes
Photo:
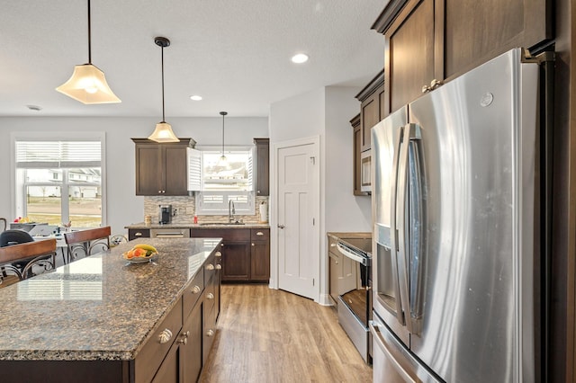
[[[396,295],[395,302],[395,315],[401,325],[404,325],[404,305],[402,301],[404,298],[401,296],[401,279],[398,264],[398,227],[396,226],[396,206],[397,206],[397,192],[398,188],[396,184],[398,183],[399,172],[399,162],[401,156],[401,145],[404,135],[404,127],[400,127],[397,140],[394,142],[394,158],[392,161],[392,183],[391,183],[391,207],[390,207],[390,241],[391,241],[391,259],[392,259],[392,277],[394,293]]]

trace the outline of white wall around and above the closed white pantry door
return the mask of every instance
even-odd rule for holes
[[[359,91],[356,87],[329,86],[270,107],[271,147],[283,141],[320,136],[320,296],[315,300],[321,304],[329,304],[326,233],[370,231],[371,227],[370,198],[353,194],[353,129],[349,120],[360,111],[360,103],[354,98]],[[275,182],[275,174],[271,182]],[[271,224],[274,271],[278,254],[274,222]],[[276,287],[277,281],[271,281],[271,285]]]

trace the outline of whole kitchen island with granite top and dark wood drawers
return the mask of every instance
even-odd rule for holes
[[[0,289],[3,381],[197,379],[220,313],[220,241],[142,238]],[[123,259],[138,243],[157,247],[153,262]]]

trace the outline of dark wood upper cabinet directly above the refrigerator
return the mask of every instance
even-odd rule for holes
[[[372,27],[384,34],[385,114],[516,47],[553,36],[551,0],[391,0]]]

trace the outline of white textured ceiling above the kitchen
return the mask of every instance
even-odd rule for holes
[[[92,62],[122,102],[84,105],[54,89],[88,61],[87,2],[1,1],[0,116],[161,117],[156,36],[171,40],[166,120],[267,116],[273,102],[363,86],[383,67],[370,26],[385,0],[92,0]],[[310,60],[293,64],[297,52]]]

